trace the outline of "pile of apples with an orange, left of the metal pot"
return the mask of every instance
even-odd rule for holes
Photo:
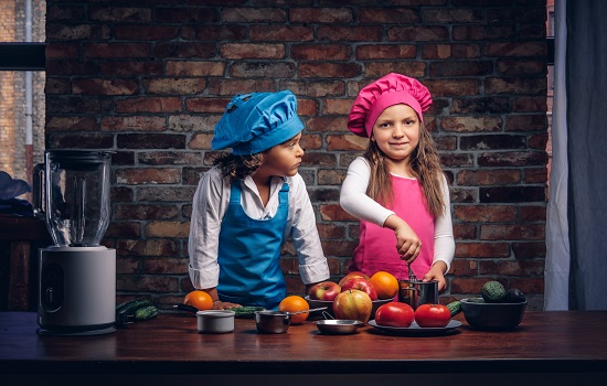
[[[373,302],[388,301],[397,292],[398,280],[388,272],[379,271],[369,277],[354,271],[345,275],[339,282],[322,281],[312,286],[309,298],[331,301],[337,319],[360,320],[366,323],[373,311]]]

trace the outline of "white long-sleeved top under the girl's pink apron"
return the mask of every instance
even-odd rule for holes
[[[348,168],[348,174],[341,185],[339,203],[352,216],[377,226],[383,226],[387,217],[395,213],[366,194],[369,181],[371,181],[371,167],[366,159],[358,157]],[[445,211],[441,216],[434,221],[433,264],[439,260],[444,261],[447,265],[448,271],[455,255],[455,239],[451,224],[449,187],[445,178],[443,182],[441,192]]]

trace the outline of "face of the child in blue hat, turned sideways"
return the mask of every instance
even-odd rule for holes
[[[305,153],[299,143],[300,140],[301,132],[265,151],[264,163],[259,168],[264,170],[264,174],[280,176],[297,174]]]

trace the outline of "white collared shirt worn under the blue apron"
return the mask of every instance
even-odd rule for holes
[[[286,178],[289,184],[289,215],[285,226],[285,240],[292,238],[299,259],[299,275],[305,285],[329,279],[329,266],[322,251],[306,183],[301,175]],[[255,219],[271,218],[278,210],[278,192],[284,179],[271,179],[270,196],[264,207],[257,186],[251,176],[242,182],[242,202],[245,213]],[[219,285],[219,239],[223,215],[230,203],[228,178],[213,168],[201,178],[192,203],[189,274],[194,288],[206,289]]]

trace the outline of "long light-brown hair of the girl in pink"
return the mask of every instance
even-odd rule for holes
[[[379,203],[391,206],[394,201],[390,168],[385,154],[375,141],[369,141],[364,158],[371,165],[371,181],[366,194]],[[411,154],[411,168],[414,176],[419,181],[426,199],[428,212],[436,218],[445,212],[443,199],[443,169],[440,157],[434,140],[424,127],[419,125],[419,142]]]

